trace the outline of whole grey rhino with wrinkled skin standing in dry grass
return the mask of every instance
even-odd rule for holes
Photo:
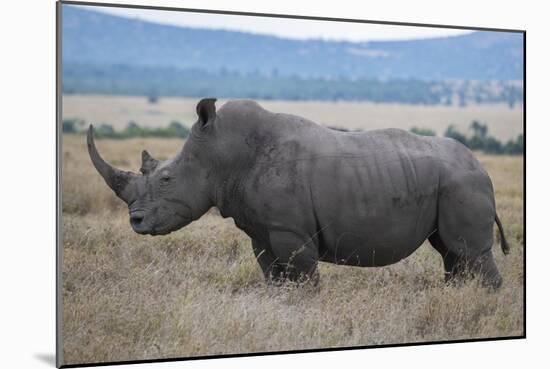
[[[318,261],[377,267],[428,239],[446,279],[464,270],[498,287],[491,180],[455,140],[398,129],[339,132],[274,114],[252,101],[197,105],[198,121],[175,158],[146,151],[142,175],[122,172],[88,149],[106,183],[128,204],[141,234],[178,230],[216,206],[252,239],[270,282],[317,283]]]

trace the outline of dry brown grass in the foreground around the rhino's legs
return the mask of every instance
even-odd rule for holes
[[[140,151],[178,140],[98,142],[136,170]],[[481,156],[511,254],[503,287],[443,284],[427,244],[390,267],[322,263],[315,292],[263,283],[248,237],[211,211],[167,236],[139,236],[102,182],[84,137],[63,138],[63,338],[66,364],[439,341],[523,334],[522,158]]]

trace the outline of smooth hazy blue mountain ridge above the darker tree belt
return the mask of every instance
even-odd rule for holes
[[[324,79],[522,80],[523,34],[295,40],[157,24],[63,6],[63,63]]]

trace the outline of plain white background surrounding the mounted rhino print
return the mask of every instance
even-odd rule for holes
[[[131,0],[128,0],[130,2]],[[528,1],[133,1],[264,13],[527,30],[527,340],[134,365],[132,368],[519,368],[548,363],[548,12]],[[55,4],[2,3],[0,366],[53,367]],[[545,145],[546,144],[546,145]],[[547,365],[547,364],[546,364]]]

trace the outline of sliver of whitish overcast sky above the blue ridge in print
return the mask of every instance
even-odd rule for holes
[[[155,23],[195,28],[244,31],[295,39],[321,38],[325,40],[347,41],[408,40],[415,38],[461,35],[471,32],[430,27],[388,26],[366,23],[200,14],[161,10],[107,8],[96,6],[84,6],[84,8],[102,11],[113,15],[139,18]]]

